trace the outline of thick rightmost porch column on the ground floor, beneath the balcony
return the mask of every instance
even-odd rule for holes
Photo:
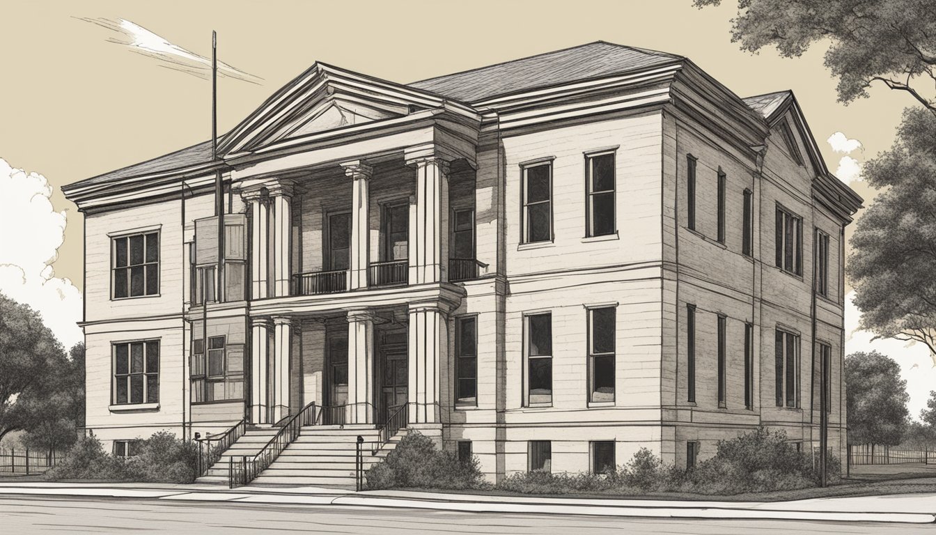
[[[448,362],[446,312],[435,304],[409,306],[409,421],[439,422],[440,368]]]

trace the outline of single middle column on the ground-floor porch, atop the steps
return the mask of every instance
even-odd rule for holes
[[[348,311],[349,424],[373,423],[373,314]]]

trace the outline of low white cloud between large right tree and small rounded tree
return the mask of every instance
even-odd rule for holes
[[[845,354],[877,350],[894,359],[900,365],[900,379],[907,380],[910,417],[919,419],[920,410],[926,409],[929,391],[936,390],[936,366],[929,349],[923,344],[892,338],[872,339],[873,333],[858,328],[861,312],[852,303],[854,298],[854,290],[845,295]]]

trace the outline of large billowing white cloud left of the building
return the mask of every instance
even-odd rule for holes
[[[41,174],[0,158],[0,292],[30,305],[67,348],[83,340],[81,292],[55,276],[51,263],[65,239],[66,212],[55,212]]]

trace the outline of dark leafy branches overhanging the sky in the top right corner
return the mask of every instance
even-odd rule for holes
[[[696,7],[722,0],[695,0]],[[732,42],[759,52],[773,45],[796,57],[828,42],[826,67],[839,99],[868,97],[873,83],[913,97],[936,116],[936,4],[932,0],[739,0]]]

